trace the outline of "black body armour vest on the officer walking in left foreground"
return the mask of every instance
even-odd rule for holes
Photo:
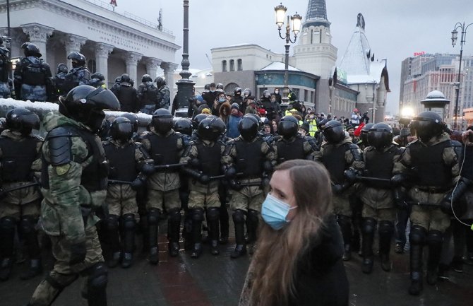
[[[71,130],[71,136],[80,136],[86,143],[88,148],[88,155],[83,160],[78,160],[71,156],[71,160],[76,163],[83,163],[85,160],[92,156],[92,161],[87,167],[82,169],[82,175],[80,176],[80,184],[88,190],[88,192],[96,192],[98,190],[107,189],[107,177],[108,177],[108,165],[107,158],[105,158],[105,151],[100,142],[100,139],[93,134],[91,131],[85,131],[78,129],[76,126],[63,126]],[[64,136],[66,137],[66,136]],[[46,136],[45,141],[48,137]],[[50,163],[42,158],[42,173],[41,173],[41,184],[44,189],[49,189],[49,175],[47,167]]]

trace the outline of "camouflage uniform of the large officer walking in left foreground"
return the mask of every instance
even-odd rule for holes
[[[97,173],[95,167],[104,165],[102,143],[87,126],[62,115],[49,113],[43,124],[49,134],[42,148],[41,225],[52,240],[56,262],[37,286],[30,305],[51,305],[79,275],[88,275],[83,295],[95,295],[96,290],[107,286],[107,269],[95,228],[99,218],[91,209],[102,206],[107,195],[106,172]],[[69,138],[71,158],[68,163],[52,165],[54,133],[64,128],[73,131]],[[96,183],[100,186],[92,186]],[[75,249],[84,242],[85,260],[80,261]]]

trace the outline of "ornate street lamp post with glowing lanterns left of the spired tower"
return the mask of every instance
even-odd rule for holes
[[[284,25],[285,18],[286,18],[286,11],[287,8],[282,5],[282,3],[278,6],[275,7],[275,12],[276,12],[276,25],[277,25],[277,30],[279,31],[279,36],[283,39],[286,40],[286,53],[285,53],[285,69],[284,69],[284,90],[282,90],[282,102],[287,102],[289,98],[287,98],[287,95],[289,95],[289,86],[288,80],[289,80],[289,42],[294,44],[297,40],[297,35],[299,35],[299,32],[301,31],[301,21],[302,17],[296,12],[293,16],[287,16],[287,23],[286,23],[286,34],[285,36],[281,35],[281,28],[282,25]],[[294,40],[291,39],[291,25],[289,24],[289,17],[290,20],[292,21],[292,32],[294,33]]]

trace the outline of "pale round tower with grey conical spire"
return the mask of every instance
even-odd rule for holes
[[[325,0],[309,0],[299,37],[299,45],[294,47],[295,66],[321,77],[316,90],[316,100],[322,103],[320,107],[328,109],[328,102],[324,105],[324,101],[329,100],[330,93],[325,83],[328,84],[335,67],[337,48],[332,45]]]

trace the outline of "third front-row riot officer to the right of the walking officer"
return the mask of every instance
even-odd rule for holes
[[[193,168],[183,170],[191,177],[189,181],[188,209],[192,218],[193,249],[191,257],[198,258],[202,253],[201,225],[204,211],[209,228],[210,252],[220,254],[218,249],[220,198],[219,180],[212,177],[221,175],[220,159],[225,143],[219,141],[225,132],[225,124],[219,117],[209,116],[197,127],[197,139],[186,149],[180,163],[191,163]]]

